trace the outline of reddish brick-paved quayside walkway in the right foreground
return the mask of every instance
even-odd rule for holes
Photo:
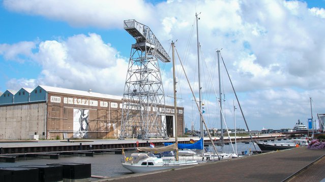
[[[325,150],[307,147],[98,181],[320,181]]]

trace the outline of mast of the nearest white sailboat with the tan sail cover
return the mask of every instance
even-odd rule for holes
[[[173,86],[174,86],[174,120],[175,120],[175,143],[179,146],[178,141],[178,120],[177,120],[177,102],[176,102],[176,78],[175,78],[175,55],[174,55],[174,42],[171,42],[172,46],[172,75],[173,75]],[[176,149],[176,161],[179,160],[179,149]]]

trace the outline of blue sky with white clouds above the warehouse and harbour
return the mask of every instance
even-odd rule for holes
[[[122,96],[135,43],[123,21],[135,19],[151,28],[169,55],[171,41],[176,41],[198,97],[197,13],[209,128],[220,128],[216,50],[221,50],[249,129],[293,128],[298,119],[307,125],[311,113],[314,118],[325,113],[324,8],[325,0],[2,0],[0,92],[47,85]],[[159,62],[171,105],[172,65]],[[193,122],[199,130],[179,61],[176,70],[185,125],[191,128]],[[220,71],[223,112],[227,127],[234,128],[235,97],[224,67]],[[236,126],[246,129],[235,105]]]

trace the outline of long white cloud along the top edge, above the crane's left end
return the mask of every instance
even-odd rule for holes
[[[40,15],[72,26],[123,27],[123,20],[152,20],[153,6],[143,0],[67,0],[67,1],[12,1],[4,0],[4,6],[15,12]]]

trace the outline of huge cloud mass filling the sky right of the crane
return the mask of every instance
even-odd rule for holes
[[[186,69],[192,78],[197,77],[193,76],[196,72],[194,68],[197,67],[194,55],[196,25],[193,27],[196,10],[201,12],[199,39],[201,53],[204,54],[201,60],[210,65],[208,67],[214,73],[212,77],[216,87],[218,77],[217,71],[213,69],[217,69],[217,66],[209,60],[215,59],[216,49],[223,48],[222,56],[235,89],[240,93],[244,113],[250,121],[256,126],[267,123],[264,126],[270,128],[284,122],[286,124],[283,127],[289,128],[299,118],[303,120],[308,117],[306,111],[310,95],[307,93],[311,92],[301,90],[318,90],[324,86],[320,81],[325,68],[325,34],[320,28],[324,27],[324,21],[320,16],[320,9],[308,9],[300,1],[206,1],[195,5],[194,8],[191,1],[168,1],[157,6],[159,10],[168,10],[161,11],[163,14],[158,17],[160,26],[163,27],[158,32],[161,35],[158,37],[178,39],[176,44],[179,52],[189,49]],[[189,38],[189,35],[192,37]],[[188,45],[189,42],[192,46]],[[207,72],[202,76],[203,83],[210,82],[208,78],[203,78]],[[222,77],[222,84],[226,85],[225,72]],[[181,83],[185,82],[180,80]],[[197,83],[193,87],[197,93]],[[230,94],[231,87],[223,89],[225,94]],[[214,94],[205,85],[202,90]],[[270,100],[263,97],[263,94],[278,96]],[[292,98],[293,95],[296,97]],[[203,93],[203,97],[208,96]],[[214,96],[210,96],[211,98]],[[184,101],[186,97],[182,99]],[[233,96],[228,96],[228,99],[233,99]],[[185,105],[189,112],[193,108],[191,100],[192,98],[188,98],[186,102],[189,104]],[[208,114],[205,116],[209,118]],[[191,121],[192,118],[188,116],[186,120]]]

